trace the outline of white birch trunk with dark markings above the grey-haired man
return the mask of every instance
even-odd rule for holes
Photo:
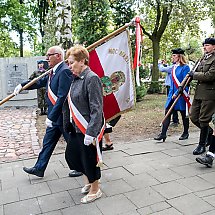
[[[56,17],[57,44],[61,45],[63,49],[68,49],[72,45],[71,0],[56,1]]]

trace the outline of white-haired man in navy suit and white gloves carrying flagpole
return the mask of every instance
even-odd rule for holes
[[[64,62],[64,51],[59,46],[53,46],[48,49],[46,60],[49,67],[52,68],[49,75],[39,79],[35,84],[30,86],[28,90],[46,87],[46,100],[48,105],[48,114],[46,118],[46,133],[43,138],[43,147],[39,153],[36,164],[32,168],[23,167],[23,170],[29,174],[43,177],[49,159],[54,148],[63,134],[64,138],[68,138],[68,134],[63,130],[62,106],[67,97],[71,82],[73,80],[72,73]],[[14,89],[14,95],[17,95],[22,87],[29,81],[19,84]],[[76,172],[79,176],[81,173]]]

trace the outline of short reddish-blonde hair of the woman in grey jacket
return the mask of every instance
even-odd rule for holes
[[[66,57],[73,56],[78,62],[85,60],[84,64],[89,65],[89,52],[82,45],[75,45],[67,50]]]

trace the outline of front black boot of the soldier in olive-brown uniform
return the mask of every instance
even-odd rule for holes
[[[202,127],[200,130],[199,145],[194,149],[194,155],[200,155],[206,151],[206,141],[208,138],[209,126]]]

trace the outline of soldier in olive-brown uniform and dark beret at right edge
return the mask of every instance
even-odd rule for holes
[[[190,113],[191,121],[200,128],[199,144],[193,151],[194,155],[206,151],[206,144],[213,133],[209,123],[215,112],[215,38],[205,39],[203,48],[204,56],[196,71],[190,72],[190,77],[198,81]]]

